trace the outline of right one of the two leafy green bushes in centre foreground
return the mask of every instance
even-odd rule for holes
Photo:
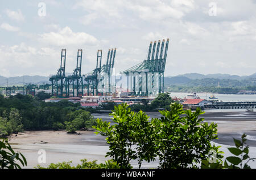
[[[211,140],[217,139],[217,125],[203,122],[199,118],[200,108],[196,112],[183,110],[183,106],[173,103],[170,111],[160,111],[160,119],[152,119],[156,131],[156,152],[160,159],[160,168],[195,168],[201,160],[209,157],[212,149],[218,152],[219,147],[212,146]],[[184,116],[185,115],[185,116]],[[217,158],[221,158],[218,152]]]

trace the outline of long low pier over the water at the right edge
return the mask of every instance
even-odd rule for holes
[[[256,101],[245,102],[214,102],[213,104],[205,104],[204,109],[254,109]]]

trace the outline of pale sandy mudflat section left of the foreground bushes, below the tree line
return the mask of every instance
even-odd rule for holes
[[[73,165],[86,158],[88,161],[104,162],[109,147],[105,138],[93,131],[78,131],[81,135],[65,131],[25,131],[18,136],[11,135],[9,143],[15,151],[22,152],[28,161],[26,168],[34,168],[38,162],[39,150],[46,151],[46,164],[73,161]]]

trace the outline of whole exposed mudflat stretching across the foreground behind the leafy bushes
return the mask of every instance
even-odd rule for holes
[[[102,118],[111,122],[108,114],[93,114],[94,118]],[[160,117],[159,113],[148,113],[150,117]],[[214,143],[222,146],[221,151],[230,155],[226,147],[234,146],[233,138],[240,139],[243,133],[247,134],[247,145],[250,145],[250,157],[256,157],[256,114],[246,112],[236,113],[205,113],[202,115],[204,122],[214,122],[218,124],[218,138]],[[93,131],[79,131],[81,135],[67,134],[65,131],[26,131],[19,133],[18,136],[11,135],[10,143],[15,151],[20,151],[27,158],[28,166],[34,168],[39,164],[38,151],[46,151],[46,164],[73,161],[76,165],[80,160],[86,158],[88,161],[97,160],[104,162],[109,152],[105,137],[96,135]],[[137,168],[137,161],[131,164]],[[143,163],[143,168],[157,168],[158,161]],[[256,162],[252,164],[256,168]]]

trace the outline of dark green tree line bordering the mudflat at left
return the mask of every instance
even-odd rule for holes
[[[75,132],[95,124],[80,103],[67,100],[44,102],[31,95],[0,96],[0,136],[24,130],[67,130]]]

